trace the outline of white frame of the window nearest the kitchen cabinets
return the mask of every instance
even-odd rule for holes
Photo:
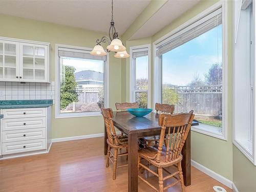
[[[69,46],[69,45],[55,45],[55,119],[58,118],[73,118],[73,117],[91,117],[101,116],[98,112],[79,112],[79,113],[60,113],[60,65],[58,50],[59,48],[77,49],[81,51],[92,51],[92,48]],[[109,106],[109,53],[106,55],[106,61],[104,65],[104,106]]]

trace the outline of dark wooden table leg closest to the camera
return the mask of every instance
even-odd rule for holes
[[[128,135],[128,191],[138,191],[138,134]]]

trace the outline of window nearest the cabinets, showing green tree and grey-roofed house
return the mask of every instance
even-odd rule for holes
[[[107,99],[106,56],[90,55],[86,48],[56,50],[56,117],[99,115]]]

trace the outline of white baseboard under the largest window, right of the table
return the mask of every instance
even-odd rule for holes
[[[205,173],[206,175],[210,176],[211,178],[214,178],[215,180],[219,181],[223,185],[226,185],[227,187],[232,189],[233,182],[228,180],[227,178],[221,176],[220,174],[215,173],[211,169],[199,164],[198,162],[191,160],[191,165],[196,167],[197,169],[201,170],[201,172]]]

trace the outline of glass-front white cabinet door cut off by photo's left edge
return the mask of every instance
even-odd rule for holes
[[[0,40],[0,81],[19,81],[18,43]]]

